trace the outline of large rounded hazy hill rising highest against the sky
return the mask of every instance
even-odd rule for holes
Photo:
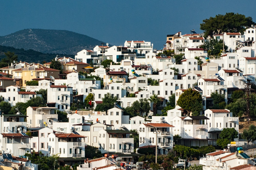
[[[24,29],[0,36],[0,45],[53,54],[74,55],[83,49],[92,50],[101,42],[72,31],[49,29]]]

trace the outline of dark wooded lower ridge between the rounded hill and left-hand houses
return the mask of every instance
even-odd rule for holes
[[[56,57],[56,55],[59,55],[60,57],[66,56],[66,57],[74,58],[74,55],[70,55],[70,54],[44,54],[34,50],[24,50],[23,48],[16,49],[13,47],[6,47],[6,46],[0,45],[0,59],[6,58],[4,53],[7,51],[11,51],[17,54],[18,61],[25,61],[29,63],[30,62],[42,63],[43,61],[50,62],[52,59]]]

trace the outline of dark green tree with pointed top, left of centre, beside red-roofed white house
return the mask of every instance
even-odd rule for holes
[[[110,93],[105,94],[102,98],[102,103],[96,106],[95,111],[105,111],[107,113],[108,109],[114,107],[116,100],[116,96],[112,97]]]

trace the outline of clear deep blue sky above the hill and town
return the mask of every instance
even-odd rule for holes
[[[197,33],[202,20],[234,12],[256,22],[255,0],[0,0],[0,36],[26,28],[60,29],[112,45],[145,40],[161,49],[167,34]]]

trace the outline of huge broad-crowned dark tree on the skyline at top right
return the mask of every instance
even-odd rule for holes
[[[245,17],[243,14],[230,12],[203,20],[203,23],[200,24],[200,29],[204,31],[204,36],[207,37],[224,32],[242,33],[245,30],[244,26],[251,25],[255,25],[252,17]]]

